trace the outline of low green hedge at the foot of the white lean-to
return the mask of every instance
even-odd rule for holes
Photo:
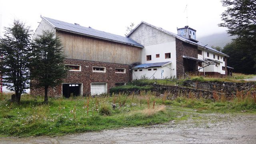
[[[152,90],[152,86],[134,86],[134,85],[125,85],[125,86],[117,86],[114,88],[110,88],[109,92],[112,94],[113,92],[115,94],[118,94],[120,92],[126,92],[126,93],[132,93],[137,92],[138,90]]]

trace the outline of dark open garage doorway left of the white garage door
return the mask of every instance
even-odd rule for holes
[[[79,96],[82,84],[62,84],[62,95],[65,98]]]

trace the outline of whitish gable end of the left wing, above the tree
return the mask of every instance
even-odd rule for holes
[[[52,32],[54,32],[56,34],[56,30],[54,29],[53,26],[48,24],[45,20],[41,20],[40,24],[36,28],[36,31],[35,31],[32,39],[34,39],[37,36],[43,34],[43,31],[46,31],[46,30],[52,31]]]

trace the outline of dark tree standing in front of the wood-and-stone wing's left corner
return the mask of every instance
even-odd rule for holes
[[[57,86],[66,77],[64,54],[60,39],[45,31],[32,45],[31,78],[36,88],[44,88],[44,102],[48,102],[48,88]]]

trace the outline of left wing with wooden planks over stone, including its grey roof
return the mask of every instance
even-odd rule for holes
[[[60,38],[70,67],[64,83],[49,89],[50,96],[102,94],[132,80],[131,67],[141,63],[143,46],[134,40],[41,16],[34,38],[52,31]],[[43,89],[30,88],[32,95]]]

